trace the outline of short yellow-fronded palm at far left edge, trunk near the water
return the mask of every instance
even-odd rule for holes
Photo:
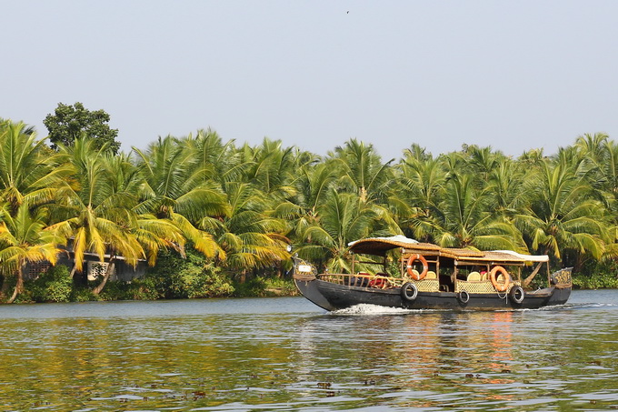
[[[60,250],[59,239],[45,227],[45,209],[39,208],[33,215],[30,207],[22,204],[12,216],[9,208],[5,203],[0,209],[0,270],[5,285],[6,276],[16,278],[13,295],[7,300],[13,303],[24,288],[26,263],[47,261],[54,265]]]

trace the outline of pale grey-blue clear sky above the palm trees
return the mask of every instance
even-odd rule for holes
[[[618,138],[618,1],[2,1],[0,117],[104,109],[121,150],[212,127],[324,155]]]

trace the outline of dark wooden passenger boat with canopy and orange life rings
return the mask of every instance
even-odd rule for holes
[[[317,274],[313,265],[294,257],[294,283],[315,305],[513,310],[563,305],[571,295],[571,268],[550,273],[544,255],[445,248],[405,236],[366,238],[349,246],[348,274]],[[547,286],[529,290],[543,266]],[[523,278],[525,269],[532,273]]]

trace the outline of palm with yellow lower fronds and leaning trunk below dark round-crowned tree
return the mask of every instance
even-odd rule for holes
[[[104,279],[94,290],[98,293],[114,268],[115,256],[123,256],[131,266],[145,257],[144,248],[132,236],[137,225],[135,184],[116,178],[125,171],[119,165],[122,158],[115,159],[105,146],[95,150],[91,139],[76,139],[73,146],[61,149],[75,174],[50,206],[55,223],[49,230],[71,240],[73,273],[82,272],[86,253],[95,253],[100,262],[110,256]]]

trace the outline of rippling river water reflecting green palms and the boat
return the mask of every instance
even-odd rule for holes
[[[618,409],[618,290],[327,313],[303,297],[0,306],[0,410]]]

